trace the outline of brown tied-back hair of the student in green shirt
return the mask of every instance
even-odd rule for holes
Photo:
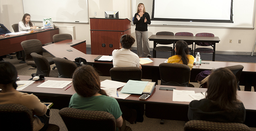
[[[91,97],[96,93],[108,96],[104,90],[100,89],[99,74],[91,65],[83,65],[75,70],[73,86],[76,93],[83,97]]]

